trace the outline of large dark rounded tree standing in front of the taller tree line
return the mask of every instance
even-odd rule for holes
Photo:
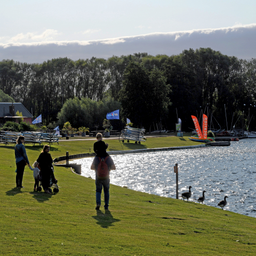
[[[120,92],[122,115],[128,117],[135,126],[150,125],[167,112],[170,105],[168,94],[170,86],[166,85],[166,78],[158,69],[149,73],[138,63],[131,62],[124,74],[123,89]]]

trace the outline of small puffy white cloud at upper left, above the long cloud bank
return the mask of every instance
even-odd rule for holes
[[[42,34],[37,35],[36,33],[20,33],[16,36],[11,37],[8,41],[12,42],[20,42],[20,41],[49,41],[52,40],[54,36],[60,35],[57,30],[54,29],[46,29]]]

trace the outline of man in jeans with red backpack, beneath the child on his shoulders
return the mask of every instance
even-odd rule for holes
[[[102,168],[99,168],[99,167],[102,167]],[[107,167],[107,170],[105,169],[106,167]],[[102,187],[104,190],[104,202],[105,202],[104,208],[105,210],[108,210],[109,183],[110,183],[109,172],[110,170],[116,170],[116,166],[113,162],[113,159],[110,156],[106,156],[106,157],[95,156],[91,165],[91,170],[95,171],[96,205],[97,205],[95,210],[100,210]]]

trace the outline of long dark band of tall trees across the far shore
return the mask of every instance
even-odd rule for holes
[[[2,60],[0,89],[28,110],[32,108],[35,117],[42,114],[45,124],[58,121],[58,113],[62,124],[65,118],[60,119],[60,113],[66,115],[62,108],[67,100],[74,100],[87,106],[87,114],[97,104],[109,106],[105,111],[120,106],[124,123],[128,117],[146,129],[154,122],[174,130],[177,114],[183,129],[193,128],[190,115],[199,117],[203,109],[209,117],[213,115],[216,128],[218,122],[229,130],[226,126],[232,119],[240,118],[237,124],[242,124],[243,113],[246,124],[249,107],[251,116],[256,114],[255,71],[256,59],[238,59],[210,48],[172,56],[134,53],[109,59],[58,58],[41,64]],[[91,125],[100,123],[101,115],[102,121],[106,117],[95,110],[98,107],[93,109]],[[253,116],[250,126],[255,127],[255,120]]]

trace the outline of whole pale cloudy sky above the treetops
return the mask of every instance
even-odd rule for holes
[[[211,47],[256,58],[256,1],[0,0],[0,60],[43,62]]]

